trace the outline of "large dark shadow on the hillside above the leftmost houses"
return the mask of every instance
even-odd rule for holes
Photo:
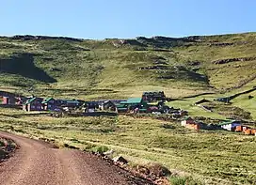
[[[17,54],[8,59],[0,59],[0,72],[20,74],[44,83],[56,82],[56,79],[35,66],[34,54]]]

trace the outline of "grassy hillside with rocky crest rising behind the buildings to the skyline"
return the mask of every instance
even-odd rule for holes
[[[256,85],[256,33],[171,39],[0,38],[1,88],[126,98],[164,89],[177,98]]]

